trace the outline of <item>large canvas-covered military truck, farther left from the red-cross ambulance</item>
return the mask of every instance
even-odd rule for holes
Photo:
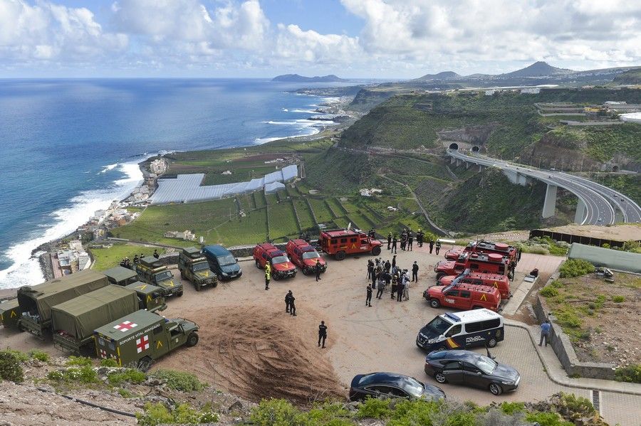
[[[108,285],[105,275],[84,270],[33,287],[20,287],[18,303],[22,314],[18,326],[21,330],[44,339],[46,331],[51,329],[51,308]]]

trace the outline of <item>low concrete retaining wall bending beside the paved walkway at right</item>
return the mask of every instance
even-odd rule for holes
[[[567,334],[563,332],[561,326],[556,324],[554,316],[551,315],[551,310],[548,308],[545,298],[541,296],[536,297],[536,304],[534,305],[534,313],[539,323],[546,319],[550,319],[552,323],[552,331],[550,342],[558,361],[568,373],[568,376],[579,376],[585,378],[600,378],[605,380],[613,380],[615,377],[615,365],[612,363],[591,363],[579,361],[572,346],[572,342]]]

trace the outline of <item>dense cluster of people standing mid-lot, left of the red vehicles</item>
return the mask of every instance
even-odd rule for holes
[[[418,282],[419,266],[416,261],[412,263],[411,282]],[[365,306],[372,307],[372,294],[376,291],[376,299],[382,299],[383,293],[390,287],[391,299],[397,302],[410,300],[410,272],[402,269],[396,264],[396,255],[392,256],[392,261],[382,261],[380,257],[375,260],[368,260],[368,284]]]

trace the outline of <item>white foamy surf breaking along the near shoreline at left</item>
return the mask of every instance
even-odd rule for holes
[[[112,169],[115,169],[114,166]],[[124,176],[114,181],[108,188],[83,191],[71,198],[69,206],[51,213],[51,224],[37,234],[30,235],[27,240],[9,247],[4,255],[13,264],[0,271],[0,288],[16,288],[23,285],[38,284],[43,281],[43,275],[36,253],[31,256],[33,249],[73,233],[78,226],[85,223],[93,213],[107,208],[114,200],[125,198],[142,182],[142,171],[137,162],[120,163],[117,170]]]

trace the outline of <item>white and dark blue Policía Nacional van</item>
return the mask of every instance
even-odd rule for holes
[[[503,316],[489,309],[472,309],[432,319],[419,331],[416,345],[428,352],[472,346],[494,348],[504,336]]]

